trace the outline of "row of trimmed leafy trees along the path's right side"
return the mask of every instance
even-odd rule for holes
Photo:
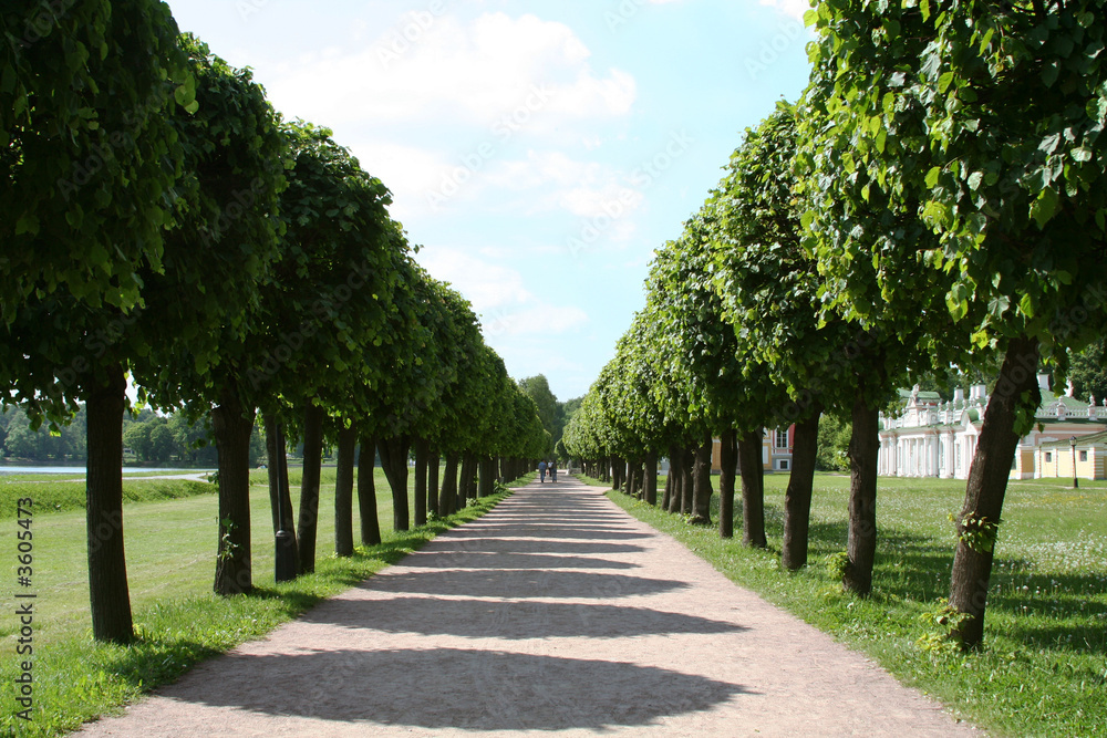
[[[849,417],[842,581],[866,595],[879,409],[911,374],[999,364],[950,582],[950,635],[977,646],[1013,454],[1041,402],[1035,374],[1064,374],[1107,323],[1097,7],[823,0],[808,14],[818,40],[804,96],[746,132],[658,251],[645,309],[566,429],[570,453],[617,469],[615,484],[631,469],[635,492],[644,462],[650,502],[668,455],[662,502],[705,523],[720,438],[721,533],[737,466],[743,541],[764,545],[763,428],[795,423],[783,563],[796,569],[818,418]]]

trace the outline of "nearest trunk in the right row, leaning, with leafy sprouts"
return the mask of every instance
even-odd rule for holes
[[[965,649],[979,648],[984,638],[984,610],[995,554],[996,526],[1003,511],[1011,460],[1018,446],[1017,417],[1021,410],[1032,413],[1042,402],[1037,364],[1037,340],[1020,337],[1010,342],[995,389],[984,410],[984,425],[969,468],[950,579],[950,606],[963,613],[952,635]],[[1025,401],[1022,399],[1024,394]],[[966,532],[970,536],[965,536]]]

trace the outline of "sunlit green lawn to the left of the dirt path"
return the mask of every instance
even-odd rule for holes
[[[292,477],[293,508],[299,503],[299,471]],[[333,555],[334,470],[324,469],[320,499],[315,573],[294,582],[273,583],[273,537],[266,472],[251,472],[254,582],[249,596],[218,597],[211,593],[215,574],[217,498],[200,493],[166,501],[125,502],[124,527],[127,576],[138,643],[121,647],[96,644],[89,615],[87,554],[84,513],[54,511],[33,519],[34,614],[33,721],[14,717],[11,685],[15,677],[15,631],[10,607],[0,616],[4,657],[0,659],[0,735],[52,736],[76,728],[83,720],[133,701],[144,692],[172,682],[197,662],[256,638],[318,603],[393,563],[447,528],[483,514],[501,496],[486,498],[446,521],[404,533],[392,528],[392,496],[383,472],[374,477],[384,543],[359,548],[351,559]],[[133,482],[154,485],[156,480]],[[199,482],[169,481],[170,485]],[[34,485],[38,499],[54,499],[55,485]],[[204,488],[214,490],[211,485]],[[3,489],[3,488],[0,488]],[[83,492],[83,486],[79,486]],[[194,490],[195,491],[195,490]],[[4,498],[8,490],[2,491]],[[359,529],[358,506],[354,530]],[[0,540],[11,562],[0,591],[13,602],[15,589],[15,521],[0,517]]]

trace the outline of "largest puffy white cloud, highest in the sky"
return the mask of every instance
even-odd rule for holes
[[[268,87],[288,115],[334,126],[438,117],[490,127],[515,115],[528,127],[548,118],[552,129],[566,118],[624,115],[635,100],[634,79],[598,74],[590,53],[568,25],[536,15],[443,15],[425,29],[402,22],[353,53],[286,63]]]

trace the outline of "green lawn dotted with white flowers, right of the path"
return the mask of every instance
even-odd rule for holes
[[[823,565],[846,548],[849,479],[815,481],[810,564],[779,567],[786,475],[766,476],[768,551],[723,541],[625,495],[611,499],[805,621],[863,651],[994,735],[1107,736],[1107,484],[1012,482],[992,576],[982,653],[944,647],[933,616],[948,594],[964,482],[881,478],[879,544],[868,600],[844,594]],[[716,479],[717,482],[717,479]],[[660,496],[660,491],[659,491]],[[741,501],[736,500],[741,508]],[[717,519],[717,496],[712,501]],[[928,613],[930,614],[928,616]]]

